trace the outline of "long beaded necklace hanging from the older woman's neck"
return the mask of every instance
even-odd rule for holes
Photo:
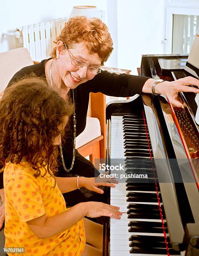
[[[53,60],[52,60],[52,62],[53,62]],[[53,89],[51,67],[52,67],[52,63],[50,64],[50,84],[51,84],[51,87]],[[70,172],[73,168],[74,163],[75,163],[76,124],[77,124],[77,120],[76,120],[76,114],[75,114],[75,100],[74,100],[74,91],[73,91],[73,89],[72,89],[72,95],[73,95],[73,127],[74,127],[73,136],[74,136],[74,143],[73,143],[73,152],[72,152],[72,164],[70,166],[70,169],[67,169],[66,166],[65,166],[65,161],[64,161],[63,151],[62,151],[62,141],[61,141],[61,144],[60,144],[60,154],[61,154],[61,158],[62,158],[62,165],[63,165],[66,172]]]

